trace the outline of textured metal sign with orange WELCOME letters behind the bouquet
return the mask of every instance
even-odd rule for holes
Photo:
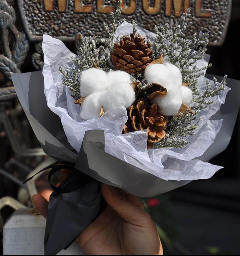
[[[104,37],[103,21],[117,0],[17,0],[25,33],[32,42],[41,41],[43,33],[64,41],[79,34]],[[152,30],[155,24],[179,19],[191,7],[194,26],[189,31],[210,31],[210,44],[221,44],[226,35],[231,0],[122,0],[122,16],[136,20],[139,26]]]

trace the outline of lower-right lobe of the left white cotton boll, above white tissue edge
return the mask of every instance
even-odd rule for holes
[[[135,92],[131,84],[117,83],[114,87],[102,93],[101,104],[104,111],[120,108],[128,108],[135,100]]]

